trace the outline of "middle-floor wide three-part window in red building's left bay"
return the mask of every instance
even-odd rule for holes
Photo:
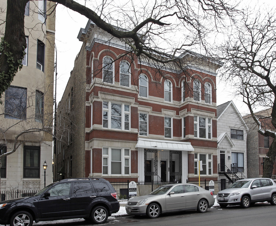
[[[130,105],[103,101],[102,127],[130,130]]]

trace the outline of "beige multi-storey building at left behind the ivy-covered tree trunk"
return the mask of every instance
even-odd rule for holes
[[[0,0],[5,20],[6,0]],[[25,8],[27,41],[23,68],[3,94],[0,106],[1,152],[13,149],[15,138],[32,128],[52,132],[53,81],[55,61],[55,11],[49,1],[29,1]],[[53,12],[52,12],[53,11]],[[52,12],[52,13],[50,13]],[[45,21],[46,20],[46,21]],[[0,27],[1,33],[4,27]],[[24,133],[17,150],[2,158],[1,191],[39,190],[44,187],[43,164],[46,160],[46,185],[52,182],[52,135],[48,132]]]

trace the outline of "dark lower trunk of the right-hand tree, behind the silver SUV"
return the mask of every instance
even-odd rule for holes
[[[276,157],[276,138],[273,139],[271,145],[269,146],[268,153],[264,160],[263,165],[263,177],[271,178],[273,172],[273,165]]]

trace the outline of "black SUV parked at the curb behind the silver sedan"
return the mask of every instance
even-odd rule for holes
[[[102,178],[65,179],[31,197],[0,202],[0,224],[32,226],[33,221],[71,218],[106,222],[120,208],[117,193]]]

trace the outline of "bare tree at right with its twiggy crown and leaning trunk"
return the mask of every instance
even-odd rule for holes
[[[272,11],[271,11],[272,12]],[[276,18],[273,13],[245,14],[221,46],[225,62],[221,74],[243,98],[263,136],[273,138],[264,162],[263,177],[272,176],[276,157]],[[259,109],[272,108],[271,114]],[[258,113],[255,113],[258,112]],[[272,126],[268,126],[271,121]]]

